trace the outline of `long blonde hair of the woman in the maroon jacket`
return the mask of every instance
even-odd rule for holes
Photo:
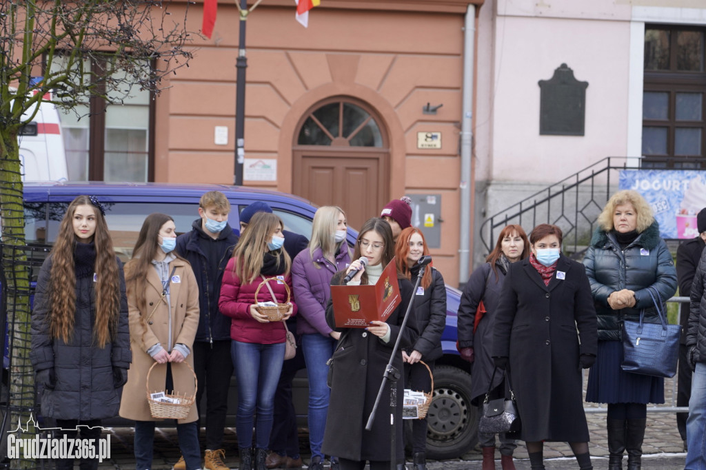
[[[270,212],[257,212],[250,219],[248,227],[241,234],[238,245],[233,252],[234,272],[241,281],[253,282],[260,275],[265,246],[277,227],[284,229],[285,224],[282,223],[280,217]],[[285,263],[282,274],[286,276],[289,274],[289,268],[292,267],[292,260],[289,259],[285,248],[280,248],[280,250],[282,250],[281,260]],[[277,258],[277,263],[280,263],[280,258]],[[277,267],[282,266],[277,264]]]

